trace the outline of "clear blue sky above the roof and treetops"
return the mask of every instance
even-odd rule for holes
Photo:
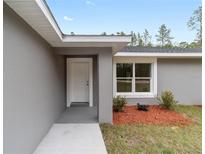
[[[108,34],[142,33],[146,28],[155,42],[161,24],[171,29],[173,42],[193,41],[187,28],[200,0],[46,0],[62,32]]]

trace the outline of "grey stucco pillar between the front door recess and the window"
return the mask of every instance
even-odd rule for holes
[[[98,56],[99,75],[99,122],[112,123],[112,52],[104,51]]]

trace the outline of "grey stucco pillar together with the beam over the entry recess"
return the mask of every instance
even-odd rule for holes
[[[101,123],[112,122],[112,49],[111,48],[55,48],[55,52],[64,56],[96,56],[97,68],[94,74],[98,83],[94,83],[94,100],[98,101],[98,118]]]

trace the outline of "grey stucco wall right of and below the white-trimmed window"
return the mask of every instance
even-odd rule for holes
[[[184,105],[202,104],[202,60],[158,59],[157,93],[171,90],[176,100]],[[128,104],[157,104],[155,98],[129,98]]]

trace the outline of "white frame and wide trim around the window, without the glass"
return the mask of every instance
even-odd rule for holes
[[[132,92],[117,92],[117,63],[132,63],[133,64],[133,77],[132,79]],[[150,79],[150,92],[135,92],[135,63],[151,64],[151,79]],[[137,77],[139,79],[139,77]],[[148,77],[150,78],[150,77]],[[145,79],[145,77],[142,77]],[[125,96],[126,98],[154,98],[157,96],[157,58],[142,58],[142,57],[114,57],[113,58],[113,96]]]

